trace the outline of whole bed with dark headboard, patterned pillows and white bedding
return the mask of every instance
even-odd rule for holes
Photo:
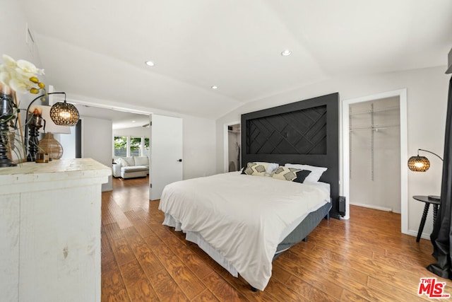
[[[242,115],[242,146],[242,172],[167,185],[159,209],[163,224],[263,290],[280,252],[340,215],[338,94]]]

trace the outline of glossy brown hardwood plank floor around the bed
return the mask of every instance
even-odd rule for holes
[[[273,262],[265,291],[250,290],[184,235],[162,226],[148,178],[113,179],[102,193],[102,301],[417,301],[434,262],[429,240],[400,233],[400,215],[351,207]],[[449,280],[445,293],[452,294]]]

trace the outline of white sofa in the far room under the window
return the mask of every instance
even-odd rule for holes
[[[114,156],[112,170],[115,178],[144,178],[149,174],[149,158],[148,156]]]

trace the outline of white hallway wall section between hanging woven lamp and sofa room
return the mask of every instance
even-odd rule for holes
[[[112,121],[93,117],[81,117],[82,120],[82,157],[112,167]],[[112,176],[102,184],[102,191],[111,191]]]

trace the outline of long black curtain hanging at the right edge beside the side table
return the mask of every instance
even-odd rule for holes
[[[446,132],[444,139],[444,164],[441,180],[439,217],[437,217],[430,239],[433,244],[433,256],[436,263],[427,269],[443,278],[452,279],[452,78],[449,81],[448,104],[446,113]]]

